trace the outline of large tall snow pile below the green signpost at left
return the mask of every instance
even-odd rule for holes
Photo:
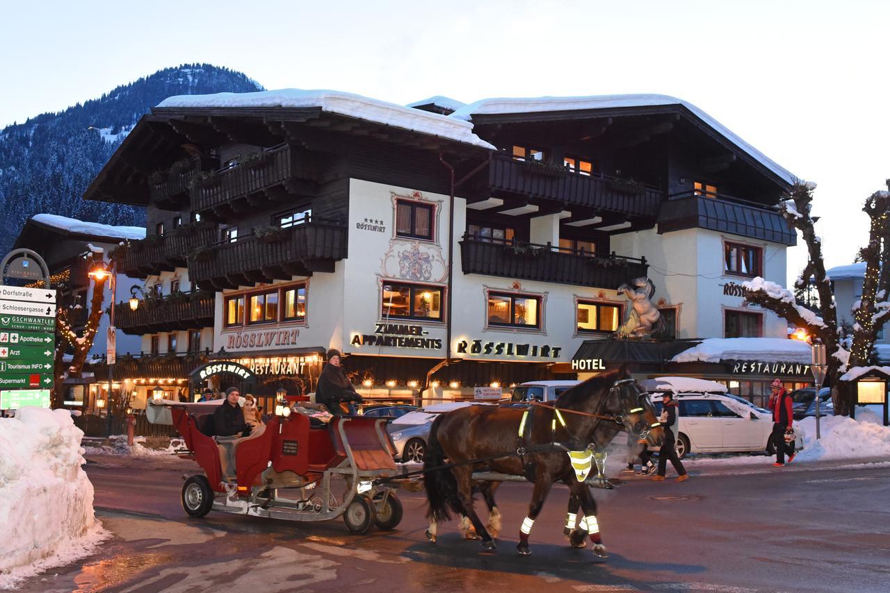
[[[107,537],[80,467],[83,435],[67,410],[26,407],[0,419],[0,588],[83,557]]]

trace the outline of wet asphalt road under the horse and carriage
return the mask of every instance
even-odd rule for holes
[[[97,516],[115,537],[92,556],[26,581],[23,591],[886,591],[890,468],[790,466],[684,484],[630,478],[596,491],[608,561],[562,539],[558,486],[515,552],[530,486],[498,492],[505,533],[484,552],[456,523],[425,540],[425,501],[401,493],[392,533],[355,536],[343,521],[298,524],[180,508],[175,458],[97,456],[86,466]],[[764,458],[765,464],[767,463]],[[481,509],[482,505],[479,504]],[[484,520],[484,516],[483,516]]]

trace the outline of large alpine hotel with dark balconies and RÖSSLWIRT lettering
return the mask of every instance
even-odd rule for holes
[[[365,395],[451,398],[640,362],[615,333],[617,289],[641,276],[676,339],[656,363],[693,339],[787,337],[738,285],[784,284],[791,182],[662,95],[402,107],[287,90],[165,100],[85,197],[147,208],[119,269],[153,305],[118,309],[142,336],[119,379],[229,360],[261,394],[309,391],[336,348]]]

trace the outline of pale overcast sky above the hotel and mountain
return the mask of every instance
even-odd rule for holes
[[[854,259],[862,202],[890,177],[890,3],[878,0],[57,0],[0,15],[0,126],[196,61],[268,89],[402,104],[658,92],[818,182],[829,266]],[[793,250],[789,276],[804,262]]]

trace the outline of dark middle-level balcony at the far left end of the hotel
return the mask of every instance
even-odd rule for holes
[[[117,262],[117,271],[132,278],[172,272],[176,267],[185,267],[191,252],[216,240],[215,225],[206,222],[183,225],[161,236],[147,236],[130,243]]]

